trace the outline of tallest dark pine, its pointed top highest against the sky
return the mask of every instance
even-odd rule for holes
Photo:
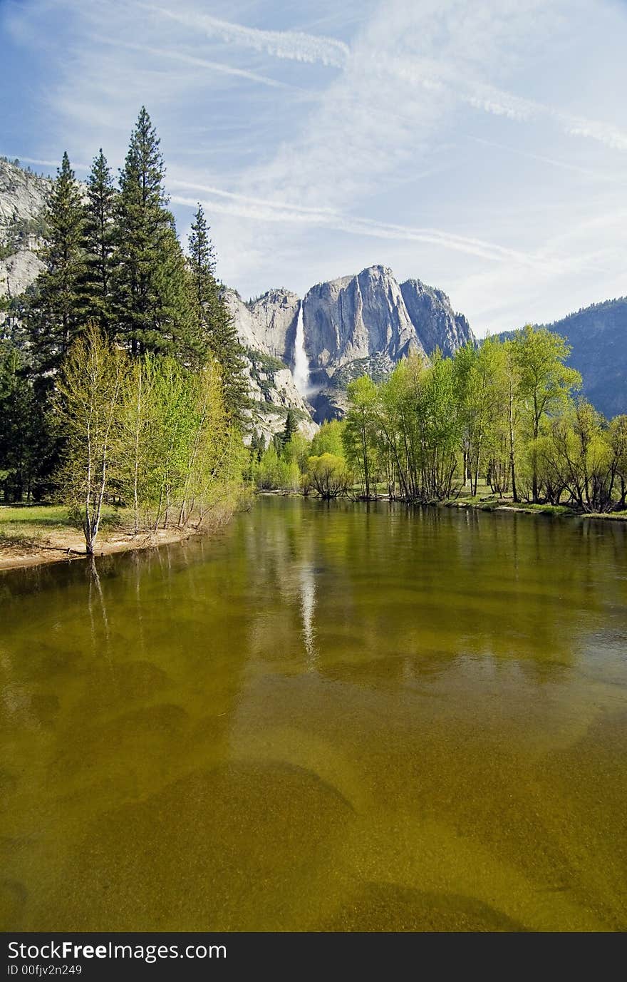
[[[120,172],[117,329],[131,355],[192,359],[188,274],[163,188],[159,137],[142,106]]]

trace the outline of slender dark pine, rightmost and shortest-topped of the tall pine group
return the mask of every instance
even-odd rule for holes
[[[187,262],[191,275],[195,349],[205,356],[212,355],[220,364],[227,412],[232,419],[242,423],[248,406],[243,349],[216,280],[214,247],[200,204],[191,225]]]

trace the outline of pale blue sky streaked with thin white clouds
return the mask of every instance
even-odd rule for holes
[[[381,263],[475,333],[627,294],[627,0],[0,0],[0,153],[84,178],[146,105],[244,298]]]

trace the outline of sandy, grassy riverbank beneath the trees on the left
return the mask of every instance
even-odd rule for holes
[[[233,515],[233,508],[216,508],[199,531],[168,527],[143,529],[134,533],[120,510],[108,508],[96,540],[96,556],[151,549],[181,542],[192,535],[205,534],[220,527]],[[56,505],[0,506],[0,572],[48,563],[86,559],[82,531],[68,518],[67,510]]]

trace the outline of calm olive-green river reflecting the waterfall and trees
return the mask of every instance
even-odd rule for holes
[[[3,574],[1,926],[624,930],[626,546],[263,498]]]

